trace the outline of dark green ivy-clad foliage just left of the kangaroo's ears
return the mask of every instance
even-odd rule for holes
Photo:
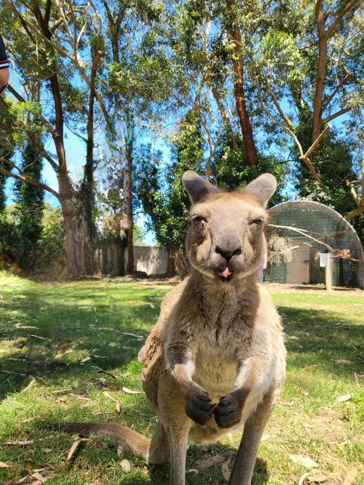
[[[158,243],[166,249],[184,252],[190,199],[182,175],[186,170],[202,173],[203,143],[200,117],[190,110],[173,138],[173,163],[166,169],[166,186],[160,183],[156,166],[148,168],[140,183],[139,199],[151,218]]]

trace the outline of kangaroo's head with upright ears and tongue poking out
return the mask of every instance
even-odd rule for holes
[[[264,174],[241,191],[226,192],[194,172],[183,183],[192,201],[186,248],[191,264],[204,275],[227,283],[258,270],[265,251],[265,211],[276,190]]]

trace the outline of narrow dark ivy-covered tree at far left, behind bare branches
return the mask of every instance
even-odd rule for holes
[[[32,142],[23,150],[21,170],[30,178],[41,181],[42,156]],[[18,264],[21,269],[30,269],[32,254],[37,251],[37,241],[42,232],[44,191],[34,185],[17,180],[15,182],[16,210],[14,217],[18,232]]]

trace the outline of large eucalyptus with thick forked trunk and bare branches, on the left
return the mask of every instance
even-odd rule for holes
[[[26,144],[26,140],[32,142],[55,172],[58,191],[29,176],[8,158],[1,158],[0,172],[46,190],[58,199],[65,223],[69,276],[91,274],[89,205],[95,100],[109,121],[96,86],[102,56],[101,17],[90,1],[3,0],[0,28],[23,88],[20,93],[10,87],[10,96],[0,100],[0,107],[14,123],[16,136],[13,138],[17,142],[14,148]],[[40,87],[39,101],[32,99],[33,86]],[[66,127],[87,145],[84,174],[79,183],[70,173]]]

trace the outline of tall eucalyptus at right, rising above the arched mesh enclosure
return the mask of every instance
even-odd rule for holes
[[[258,92],[258,100],[251,101],[258,102],[276,132],[292,139],[297,174],[303,184],[311,185],[312,196],[326,192],[329,200],[333,159],[322,155],[338,149],[338,137],[344,144],[350,137],[355,144],[353,128],[363,119],[363,4],[258,0],[251,5],[243,37],[249,75]],[[330,122],[337,129],[328,136]],[[346,192],[346,199],[353,194],[351,209],[346,206],[343,213],[349,220],[364,212],[364,203],[350,187],[356,185],[361,193],[362,176],[358,167],[347,163],[342,170],[337,165],[334,185]]]

